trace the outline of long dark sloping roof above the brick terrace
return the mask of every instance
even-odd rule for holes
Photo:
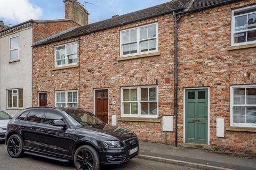
[[[79,37],[92,32],[98,32],[114,27],[119,27],[132,22],[146,20],[155,16],[172,13],[173,11],[182,10],[185,13],[200,11],[203,8],[210,8],[218,5],[224,5],[239,0],[173,0],[164,4],[156,5],[153,7],[145,8],[140,11],[124,14],[121,16],[115,16],[107,20],[91,23],[83,27],[76,28],[58,37],[54,37],[42,43],[38,43],[35,46],[50,44],[57,41]]]

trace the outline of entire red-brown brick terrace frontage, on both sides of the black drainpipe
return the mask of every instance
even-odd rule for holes
[[[201,12],[186,14],[179,22],[179,120],[178,140],[183,143],[183,89],[210,88],[210,146],[225,152],[256,155],[256,134],[225,131],[216,137],[216,118],[229,125],[230,85],[256,84],[255,48],[228,51],[231,8],[254,4],[241,1]],[[119,31],[158,22],[160,56],[117,61]],[[164,15],[123,27],[91,33],[76,39],[34,48],[33,105],[37,92],[46,91],[54,106],[54,90],[78,90],[79,107],[93,112],[93,89],[109,90],[111,115],[121,117],[121,87],[158,84],[159,117],[173,114],[173,16]],[[54,46],[78,41],[78,68],[53,71]],[[117,101],[112,104],[111,101]],[[141,140],[164,142],[162,123],[118,122],[137,133]],[[167,132],[167,143],[174,143],[174,132]]]

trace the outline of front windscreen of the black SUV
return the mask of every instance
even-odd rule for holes
[[[69,121],[76,126],[97,125],[103,123],[98,117],[94,116],[92,113],[80,109],[69,110],[65,111],[64,113],[69,118]]]

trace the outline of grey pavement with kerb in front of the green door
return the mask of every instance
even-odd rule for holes
[[[137,158],[198,169],[256,169],[256,159],[252,158],[142,141],[140,141],[140,154]]]

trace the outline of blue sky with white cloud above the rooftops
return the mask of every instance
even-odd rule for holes
[[[84,4],[85,0],[78,0]],[[169,2],[170,0],[86,0],[89,11],[89,23],[141,10],[150,6]],[[0,20],[12,26],[34,20],[63,19],[65,17],[62,0],[0,0]]]

